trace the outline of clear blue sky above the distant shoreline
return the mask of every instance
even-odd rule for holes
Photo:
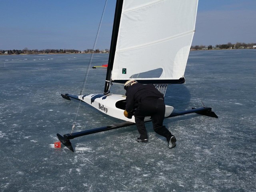
[[[105,0],[0,0],[0,50],[93,48]],[[109,49],[115,0],[96,48]],[[256,0],[199,0],[192,45],[256,43]]]

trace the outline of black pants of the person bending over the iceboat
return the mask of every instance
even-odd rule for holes
[[[154,131],[161,136],[170,138],[171,132],[163,126],[165,113],[164,100],[157,98],[145,98],[142,100],[135,111],[135,123],[141,139],[147,139],[148,134],[144,123],[144,118],[150,116]]]

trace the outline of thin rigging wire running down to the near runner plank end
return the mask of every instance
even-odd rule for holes
[[[94,41],[94,45],[93,45],[93,49],[92,49],[92,54],[90,56],[90,60],[89,60],[89,64],[87,66],[87,70],[86,70],[86,73],[85,73],[85,76],[84,76],[84,82],[83,82],[83,85],[82,85],[82,88],[81,88],[81,91],[80,91],[80,95],[82,95],[84,93],[84,89],[85,89],[85,85],[86,85],[86,81],[87,81],[87,78],[88,78],[88,74],[89,74],[89,70],[90,70],[90,67],[91,67],[91,64],[92,64],[92,58],[93,58],[93,55],[94,55],[94,49],[96,47],[96,43],[97,43],[97,40],[98,40],[98,36],[99,36],[99,33],[100,33],[100,27],[101,27],[101,24],[102,24],[102,20],[103,20],[103,16],[104,16],[104,13],[105,13],[105,10],[106,10],[106,5],[107,5],[107,2],[108,0],[105,1],[105,5],[104,5],[104,8],[103,8],[103,12],[102,12],[102,15],[101,15],[101,18],[100,18],[100,24],[98,26],[98,31],[97,31],[97,35],[96,35],[96,38],[95,38],[95,41]],[[77,109],[77,112],[76,112],[76,118],[77,118],[77,115],[78,115],[78,110],[80,108],[80,104],[81,104],[81,100],[79,102],[79,105],[78,105],[78,109]],[[71,130],[71,133],[73,133],[74,131],[74,128],[76,126],[76,118],[74,120],[74,124],[72,126],[72,130]]]

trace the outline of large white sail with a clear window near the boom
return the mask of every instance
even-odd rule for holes
[[[124,0],[112,81],[184,76],[198,0]]]

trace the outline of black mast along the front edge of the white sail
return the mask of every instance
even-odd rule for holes
[[[112,30],[112,38],[111,38],[111,44],[110,44],[110,53],[108,58],[108,69],[106,74],[104,93],[108,92],[110,88],[110,83],[111,83],[110,78],[111,78],[111,72],[112,72],[114,57],[116,52],[116,42],[118,37],[122,6],[123,6],[123,0],[116,0],[116,10],[115,10],[115,16],[114,16],[114,24],[113,24],[113,30]]]

